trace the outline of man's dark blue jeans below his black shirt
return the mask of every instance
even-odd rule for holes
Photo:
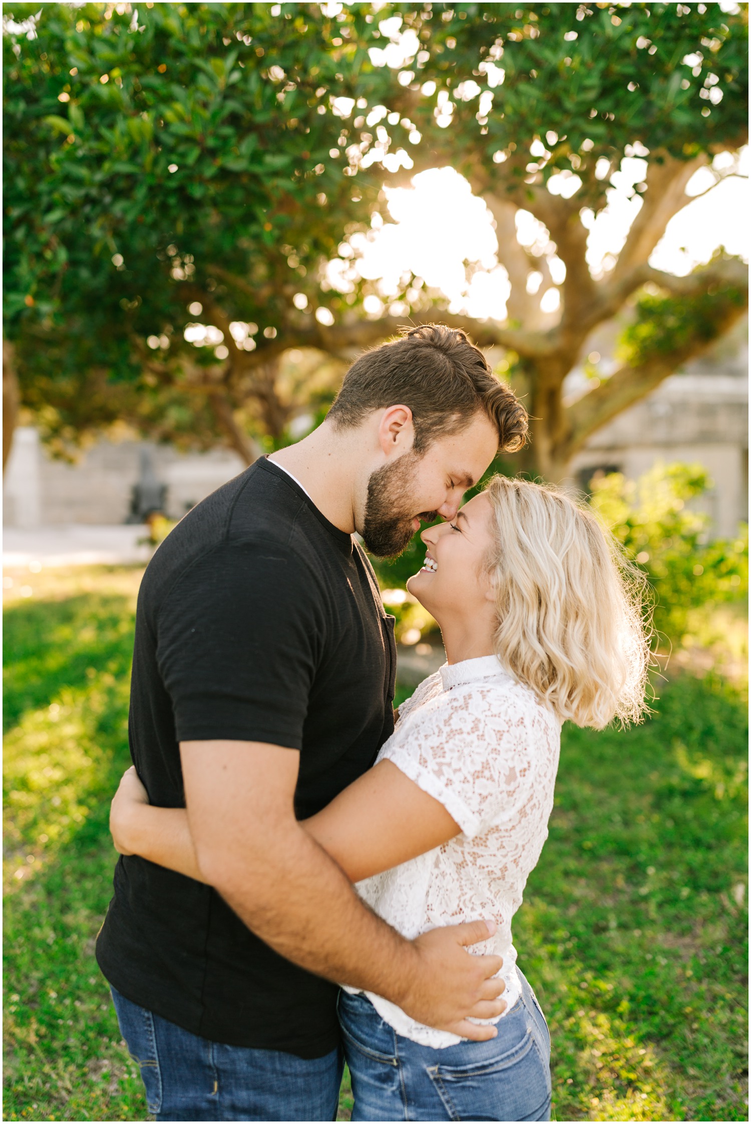
[[[340,1050],[306,1060],[209,1042],[111,988],[120,1033],[157,1121],[333,1121]]]

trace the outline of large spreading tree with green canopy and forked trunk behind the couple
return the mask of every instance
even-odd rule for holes
[[[649,265],[697,169],[745,142],[743,11],[49,4],[29,40],[13,28],[33,7],[9,10],[6,324],[51,434],[126,417],[208,443],[218,425],[252,459],[248,428],[279,438],[296,408],[284,352],[341,359],[397,330],[364,315],[346,238],[383,179],[441,164],[495,217],[506,319],[452,317],[409,277],[401,305],[506,348],[533,416],[526,466],[549,479],[748,301],[723,255],[686,278]],[[641,209],[595,275],[588,227],[624,160],[643,174]],[[521,211],[543,225],[535,246],[516,236]],[[551,291],[557,311],[541,305]],[[625,312],[621,370],[565,407],[588,336]]]

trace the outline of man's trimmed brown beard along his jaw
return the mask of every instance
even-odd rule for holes
[[[409,545],[417,514],[410,506],[414,496],[415,468],[419,456],[405,453],[392,464],[371,473],[363,518],[362,538],[377,558],[392,558]],[[413,500],[414,502],[414,500]],[[422,511],[419,518],[432,523],[437,511]]]

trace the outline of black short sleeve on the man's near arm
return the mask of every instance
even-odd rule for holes
[[[178,741],[302,747],[325,614],[317,583],[295,552],[219,544],[170,590],[156,633]]]

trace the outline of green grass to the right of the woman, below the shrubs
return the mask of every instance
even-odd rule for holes
[[[744,699],[688,674],[626,734],[568,728],[515,923],[559,1120],[748,1120]]]

